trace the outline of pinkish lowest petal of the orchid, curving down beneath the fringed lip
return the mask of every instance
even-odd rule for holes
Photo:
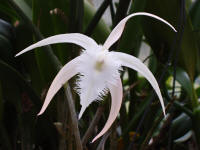
[[[110,85],[109,90],[111,93],[112,97],[112,105],[111,105],[111,110],[110,114],[108,117],[108,120],[104,126],[104,128],[101,130],[101,132],[92,140],[92,142],[96,141],[99,137],[101,137],[108,129],[111,127],[115,119],[117,118],[117,115],[119,113],[121,104],[122,104],[122,83],[120,77],[117,78],[117,83],[116,85]]]

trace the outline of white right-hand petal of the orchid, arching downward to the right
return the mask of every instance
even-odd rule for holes
[[[117,57],[121,61],[122,66],[126,66],[126,67],[129,67],[131,69],[138,71],[150,82],[151,86],[154,88],[156,94],[159,97],[163,113],[166,116],[165,106],[164,106],[163,98],[162,98],[162,95],[160,92],[160,88],[158,86],[158,83],[157,83],[155,77],[151,73],[151,71],[145,66],[145,64],[143,64],[138,58],[136,58],[134,56],[131,56],[131,55],[128,55],[125,53],[121,53],[121,52],[112,52],[112,53],[115,57]]]

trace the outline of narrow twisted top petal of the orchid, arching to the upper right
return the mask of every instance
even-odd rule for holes
[[[135,16],[149,16],[149,17],[152,17],[152,18],[155,18],[157,20],[160,20],[161,22],[167,24],[170,28],[172,28],[175,32],[176,29],[169,23],[167,22],[166,20],[156,16],[156,15],[153,15],[153,14],[150,14],[150,13],[145,13],[145,12],[138,12],[138,13],[133,13],[127,17],[125,17],[124,19],[122,19],[118,24],[117,26],[112,30],[112,32],[110,33],[110,35],[108,36],[107,40],[105,41],[103,47],[105,49],[109,49],[110,46],[112,46],[122,35],[122,32],[124,30],[124,27],[125,27],[125,24],[126,22],[132,18],[132,17],[135,17]]]

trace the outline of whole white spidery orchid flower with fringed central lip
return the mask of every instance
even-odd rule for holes
[[[107,94],[108,91],[111,93],[112,104],[108,120],[102,131],[93,139],[92,142],[94,142],[110,128],[119,113],[122,104],[123,92],[119,73],[121,66],[129,67],[138,71],[150,82],[151,86],[154,88],[156,94],[159,97],[162,110],[165,115],[164,102],[158,83],[149,69],[134,56],[121,52],[108,51],[108,49],[122,35],[126,22],[131,17],[138,15],[149,16],[160,20],[176,32],[175,28],[164,19],[150,13],[138,12],[131,14],[121,20],[119,24],[112,30],[103,45],[98,45],[93,39],[86,35],[80,33],[70,33],[48,37],[19,52],[16,56],[19,56],[34,48],[55,43],[74,43],[84,49],[80,56],[64,65],[56,75],[48,90],[42,109],[38,115],[41,115],[46,110],[50,101],[58,92],[58,90],[63,86],[63,84],[65,84],[76,74],[79,74],[80,77],[77,80],[77,91],[80,95],[80,104],[82,106],[79,113],[79,119],[81,118],[85,109],[93,101],[102,100],[102,96]]]

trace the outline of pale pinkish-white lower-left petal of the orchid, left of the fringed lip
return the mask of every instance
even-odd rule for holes
[[[79,56],[80,57],[80,56]],[[41,115],[49,105],[50,101],[54,97],[54,95],[58,92],[58,90],[74,75],[78,73],[77,71],[77,64],[79,64],[79,57],[76,57],[75,59],[68,62],[66,65],[63,66],[63,68],[58,72],[56,77],[54,78],[53,82],[51,83],[51,86],[47,92],[47,96],[45,98],[44,104],[42,106],[42,109],[38,113],[38,115]]]

